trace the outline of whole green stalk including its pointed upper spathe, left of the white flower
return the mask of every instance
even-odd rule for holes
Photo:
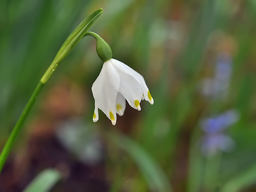
[[[11,135],[9,136],[2,152],[0,155],[0,173],[4,167],[5,161],[12,149],[12,146],[19,135],[21,128],[26,120],[28,113],[30,112],[33,104],[36,101],[41,89],[45,85],[45,83],[49,80],[53,72],[56,70],[58,64],[62,59],[64,59],[76,46],[76,44],[84,37],[85,33],[91,27],[91,25],[98,19],[98,17],[102,14],[103,9],[98,9],[97,11],[90,14],[84,21],[82,21],[70,34],[70,36],[65,40],[61,48],[59,49],[57,55],[55,56],[52,64],[47,69],[47,71],[42,76],[39,84],[37,85],[35,91],[33,92],[32,96],[30,97],[28,103],[26,104],[19,120],[17,121],[16,125],[14,126]]]

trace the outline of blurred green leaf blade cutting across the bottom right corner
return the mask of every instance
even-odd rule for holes
[[[256,184],[256,164],[227,182],[220,192],[238,192],[252,184]]]

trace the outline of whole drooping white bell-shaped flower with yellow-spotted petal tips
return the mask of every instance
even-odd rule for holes
[[[116,59],[104,62],[100,75],[93,83],[91,90],[95,99],[94,122],[99,119],[99,108],[115,125],[116,113],[120,116],[124,113],[125,99],[138,111],[140,111],[141,100],[145,99],[150,104],[154,103],[142,75]]]

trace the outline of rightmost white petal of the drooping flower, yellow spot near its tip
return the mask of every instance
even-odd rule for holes
[[[141,74],[130,68],[129,66],[125,65],[124,63],[116,60],[116,59],[110,59],[111,63],[114,65],[114,67],[117,67],[120,71],[124,73],[128,73],[132,75],[133,77],[136,76],[136,81],[138,81],[141,85],[142,91],[143,91],[143,99],[148,101],[150,104],[154,103],[154,100],[149,92],[149,88],[146,85],[146,82]],[[126,97],[125,97],[126,98]]]

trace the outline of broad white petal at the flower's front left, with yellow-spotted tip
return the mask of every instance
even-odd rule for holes
[[[118,73],[113,65],[106,61],[91,90],[95,99],[95,109],[96,106],[101,109],[113,125],[116,124],[117,120],[115,106],[119,85],[120,78]]]

